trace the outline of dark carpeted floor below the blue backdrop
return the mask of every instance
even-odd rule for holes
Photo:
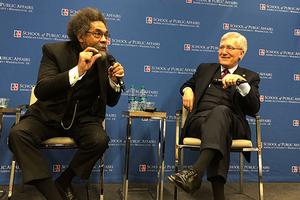
[[[140,188],[148,190],[130,190],[128,200],[150,200],[155,199],[155,186],[144,185]],[[79,200],[86,200],[85,185],[75,185],[75,192]],[[4,191],[7,186],[1,186]],[[104,185],[104,200],[118,200],[120,198],[121,184],[105,184]],[[173,185],[164,184],[164,200],[173,199]],[[89,187],[89,199],[98,200],[99,197],[98,185],[91,185]],[[238,184],[228,183],[225,186],[226,200],[255,200],[258,199],[257,183],[246,183],[244,194],[238,193]],[[7,199],[6,196],[1,200]],[[265,200],[298,200],[300,199],[300,183],[265,183],[264,184],[264,199]],[[13,200],[45,200],[41,195],[31,186],[16,186]],[[182,190],[179,190],[178,200],[213,200],[211,187],[208,182],[204,182],[201,189],[190,195]]]

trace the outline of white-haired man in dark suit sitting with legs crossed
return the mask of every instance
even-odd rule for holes
[[[224,200],[232,139],[250,139],[246,115],[259,111],[259,75],[239,66],[247,51],[246,38],[228,32],[220,40],[218,63],[200,64],[180,88],[189,110],[182,138],[200,138],[201,154],[191,169],[168,179],[186,192],[201,186],[204,172],[212,183],[215,200]],[[246,155],[249,161],[250,155]]]

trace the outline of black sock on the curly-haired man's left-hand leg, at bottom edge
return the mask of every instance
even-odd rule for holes
[[[34,185],[47,200],[63,200],[52,178],[34,180],[30,184]]]

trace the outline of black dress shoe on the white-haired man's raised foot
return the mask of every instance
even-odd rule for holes
[[[194,193],[200,188],[202,177],[193,169],[182,170],[179,173],[168,176],[169,181],[188,193]]]

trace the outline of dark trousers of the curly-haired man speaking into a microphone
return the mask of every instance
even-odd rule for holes
[[[26,117],[11,128],[9,135],[9,146],[22,169],[24,183],[51,177],[39,144],[57,136],[72,137],[76,141],[78,150],[69,167],[82,179],[90,176],[95,163],[108,148],[109,138],[98,122],[77,122],[65,131],[49,127],[34,117]]]

